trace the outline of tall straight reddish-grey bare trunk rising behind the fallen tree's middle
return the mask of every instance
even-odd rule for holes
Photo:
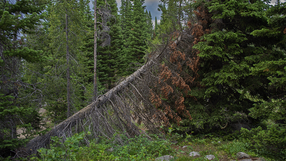
[[[96,32],[96,0],[94,0],[94,77],[93,77],[93,95],[94,99],[97,99],[97,83],[96,83],[96,62],[97,62],[97,32]]]

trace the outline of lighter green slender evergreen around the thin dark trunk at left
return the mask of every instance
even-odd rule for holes
[[[80,4],[81,2],[84,4]],[[78,46],[82,44],[84,34],[88,32],[86,26],[88,23],[86,16],[82,13],[85,9],[80,9],[79,6],[87,5],[88,1],[55,2],[51,6],[49,14],[49,34],[53,40],[51,46],[56,49],[53,51],[55,54],[53,57],[56,60],[55,72],[58,72],[57,77],[60,82],[63,79],[67,80],[66,88],[62,88],[66,89],[67,94],[61,95],[66,97],[59,98],[57,101],[62,103],[67,101],[67,116],[71,115],[72,108],[76,110],[75,100],[72,98],[78,98],[78,96],[71,91],[76,91],[76,84],[80,83],[78,78],[83,77],[78,72],[83,67],[81,60],[78,59],[78,56],[82,54]],[[66,57],[65,61],[63,60],[64,56]],[[74,97],[71,98],[71,95]],[[57,115],[62,116],[61,113]]]

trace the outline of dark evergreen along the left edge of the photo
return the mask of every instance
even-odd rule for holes
[[[42,1],[1,1],[0,8],[0,155],[5,157],[6,150],[27,141],[18,138],[17,128],[23,128],[23,134],[29,137],[28,133],[39,125],[35,103],[24,104],[40,94],[40,85],[37,80],[25,82],[23,68],[25,62],[40,61],[42,51],[23,46],[19,36],[33,32],[41,22],[44,5]]]

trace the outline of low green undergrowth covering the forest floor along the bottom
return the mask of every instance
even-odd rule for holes
[[[64,143],[60,138],[53,137],[50,149],[41,148],[37,156],[20,158],[19,160],[155,160],[155,158],[171,155],[176,161],[206,160],[204,156],[214,155],[217,161],[236,160],[237,152],[245,152],[252,157],[263,157],[266,160],[284,160],[283,156],[261,153],[258,149],[251,148],[251,144],[242,137],[178,134],[169,128],[166,132],[167,139],[159,135],[136,136],[126,138],[124,145],[118,145],[112,138],[91,140],[89,145],[80,146],[80,142],[89,133],[79,133],[67,138]],[[232,139],[230,139],[232,138]],[[178,143],[173,143],[177,140]],[[191,157],[190,152],[199,152],[200,156]]]

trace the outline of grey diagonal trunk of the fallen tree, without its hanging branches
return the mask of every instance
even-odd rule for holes
[[[179,37],[178,40],[176,40],[174,43],[177,45],[180,40],[181,40],[181,37]],[[160,57],[162,52],[157,54],[156,56],[154,56],[152,59],[148,60],[146,62],[146,64],[144,64],[141,68],[139,68],[133,74],[128,76],[121,83],[116,85],[114,88],[110,89],[107,93],[99,96],[98,99],[96,101],[92,102],[90,105],[84,107],[83,109],[81,109],[80,111],[78,111],[74,115],[72,115],[71,117],[69,117],[66,120],[62,121],[61,123],[55,125],[45,135],[39,135],[39,136],[36,136],[35,138],[33,138],[32,140],[30,140],[23,149],[28,153],[32,153],[32,152],[36,152],[36,150],[38,148],[40,148],[41,145],[49,144],[50,137],[56,136],[56,133],[58,131],[62,131],[67,126],[69,128],[73,127],[74,125],[76,125],[78,123],[75,120],[80,119],[80,118],[86,118],[87,115],[90,115],[93,110],[101,107],[106,102],[111,100],[113,97],[116,97],[118,92],[125,89],[128,85],[130,85],[130,83],[132,83],[135,79],[137,79],[141,74],[145,73],[154,64],[154,60],[156,60]]]

